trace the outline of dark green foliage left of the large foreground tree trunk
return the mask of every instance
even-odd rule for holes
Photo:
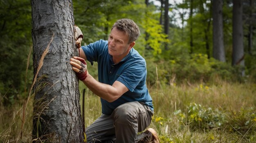
[[[29,0],[0,1],[0,96],[13,104],[25,90],[27,56],[31,47]],[[31,78],[27,78],[31,82]]]

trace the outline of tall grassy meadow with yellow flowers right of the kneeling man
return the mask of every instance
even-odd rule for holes
[[[255,84],[219,81],[157,87],[150,87],[157,106],[151,126],[164,143],[256,143]]]

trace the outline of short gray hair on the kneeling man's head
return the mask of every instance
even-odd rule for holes
[[[137,24],[133,20],[127,18],[117,20],[117,22],[115,22],[115,24],[112,26],[112,29],[115,27],[118,30],[124,31],[125,34],[128,34],[128,43],[136,41],[140,35],[139,27]]]

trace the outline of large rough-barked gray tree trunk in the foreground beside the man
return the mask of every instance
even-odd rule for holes
[[[72,0],[31,0],[31,7],[36,79],[34,142],[81,143],[79,81],[69,64],[69,59],[78,55]]]

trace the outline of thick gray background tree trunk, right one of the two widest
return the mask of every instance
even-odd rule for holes
[[[233,53],[232,65],[245,66],[243,46],[243,4],[242,0],[233,0]],[[245,70],[242,71],[245,76]]]

